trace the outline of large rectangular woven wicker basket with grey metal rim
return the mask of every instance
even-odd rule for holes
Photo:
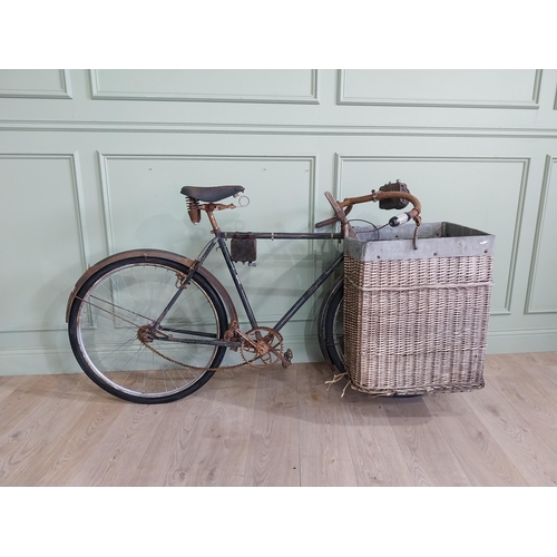
[[[358,229],[344,241],[352,387],[424,394],[483,387],[495,236],[452,223]]]

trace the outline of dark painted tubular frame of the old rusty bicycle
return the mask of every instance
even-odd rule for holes
[[[236,292],[240,296],[242,305],[246,312],[247,319],[250,321],[250,325],[252,329],[258,328],[257,319],[253,312],[252,304],[247,297],[244,285],[242,284],[242,280],[240,278],[237,268],[235,263],[232,261],[231,252],[228,250],[228,245],[226,244],[226,240],[232,238],[255,238],[255,240],[342,240],[342,233],[275,233],[275,232],[260,232],[260,233],[238,233],[238,232],[222,232],[215,231],[215,237],[204,247],[204,250],[199,253],[197,258],[194,261],[194,265],[189,270],[187,276],[180,283],[180,287],[169,301],[168,305],[165,307],[158,320],[153,324],[154,329],[158,328],[165,315],[169,312],[170,307],[177,301],[182,292],[187,287],[192,276],[202,267],[203,263],[209,255],[209,253],[218,246],[223,254],[224,261],[226,262],[226,266],[231,274],[231,277],[236,287]],[[312,297],[312,295],[319,290],[320,286],[333,274],[336,267],[340,266],[344,258],[344,255],[339,255],[329,267],[321,273],[321,275],[313,282],[313,284],[299,297],[299,300],[292,305],[292,307],[286,311],[286,313],[277,321],[277,323],[272,328],[274,331],[280,331],[283,326],[300,311],[300,309]],[[162,330],[165,330],[164,328]],[[211,344],[211,345],[219,345],[227,348],[237,348],[240,346],[240,342],[236,341],[224,341],[218,339],[213,340],[202,340],[202,339],[164,339],[170,342],[182,342],[184,344]]]

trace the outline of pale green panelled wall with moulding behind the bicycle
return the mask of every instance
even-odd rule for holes
[[[331,215],[324,192],[397,178],[424,221],[497,235],[489,351],[557,350],[557,70],[0,70],[1,373],[78,370],[65,310],[88,265],[196,255],[209,227],[183,185],[245,186],[223,229],[302,232]],[[261,241],[241,274],[262,324],[339,248]],[[284,330],[294,361],[321,358],[317,310]]]

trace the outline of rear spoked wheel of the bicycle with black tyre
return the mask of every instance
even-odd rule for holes
[[[207,369],[221,364],[225,346],[139,340],[139,328],[159,317],[188,271],[163,256],[130,256],[101,267],[79,289],[69,312],[69,340],[98,387],[127,401],[157,404],[187,397],[213,377]],[[160,324],[174,339],[222,339],[226,323],[221,296],[194,274]]]

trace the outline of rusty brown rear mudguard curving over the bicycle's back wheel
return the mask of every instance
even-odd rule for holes
[[[77,293],[79,292],[81,286],[86,283],[86,281],[89,277],[91,277],[95,273],[97,273],[97,271],[102,268],[105,265],[109,265],[117,261],[126,260],[128,257],[145,257],[145,261],[149,261],[153,258],[169,260],[175,263],[180,263],[182,265],[186,265],[187,267],[192,267],[194,265],[193,260],[184,257],[183,255],[178,255],[177,253],[166,252],[164,250],[129,250],[127,252],[120,252],[110,255],[99,261],[91,267],[89,267],[74,286],[74,290],[71,291],[71,294],[68,300],[68,305],[66,307],[66,323],[68,323],[69,321],[69,314],[71,305],[74,304],[74,300],[76,299]],[[234,302],[232,301],[228,292],[226,292],[226,289],[221,284],[221,282],[203,266],[197,270],[197,273],[199,273],[204,278],[206,278],[214,286],[218,295],[222,297],[228,313],[228,323],[231,323],[232,321],[237,321],[238,315],[236,312],[236,307],[234,306]]]

